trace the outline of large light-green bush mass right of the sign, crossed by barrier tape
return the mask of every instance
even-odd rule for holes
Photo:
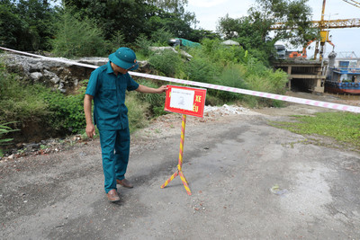
[[[288,81],[286,73],[266,67],[264,63],[255,58],[262,51],[245,51],[241,47],[228,47],[220,44],[220,40],[202,40],[202,48],[191,49],[193,56],[184,67],[188,78],[209,84],[220,84],[236,88],[245,88],[266,93],[285,93],[285,84]],[[240,101],[250,107],[281,106],[280,101],[270,100],[239,93],[224,91],[208,91],[207,102]]]

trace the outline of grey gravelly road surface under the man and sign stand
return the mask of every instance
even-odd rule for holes
[[[315,110],[189,117],[183,170],[192,196],[178,177],[160,189],[176,169],[175,114],[132,136],[135,187],[118,186],[117,204],[103,191],[98,140],[2,162],[0,238],[360,239],[359,154],[267,124],[293,111]]]

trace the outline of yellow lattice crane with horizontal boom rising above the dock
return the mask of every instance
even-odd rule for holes
[[[356,5],[357,7],[360,7],[360,3],[354,0],[343,0],[343,1],[347,2],[348,4],[353,4]],[[314,59],[317,58],[317,55],[319,53],[319,45],[320,45],[320,59],[322,59],[325,43],[331,42],[329,40],[329,29],[360,28],[360,18],[338,19],[338,20],[328,20],[328,21],[324,20],[325,4],[326,4],[326,0],[323,0],[321,20],[311,21],[312,27],[320,29],[320,37],[321,37],[320,40],[316,41]],[[270,29],[276,30],[276,29],[288,29],[288,28],[285,26],[284,22],[275,22],[275,24],[271,26]]]

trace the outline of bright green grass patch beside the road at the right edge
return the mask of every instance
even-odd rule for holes
[[[296,121],[272,121],[270,124],[301,135],[331,138],[342,147],[360,152],[360,114],[318,112],[314,116],[295,115],[293,117]],[[311,142],[330,147],[325,140],[319,138]]]

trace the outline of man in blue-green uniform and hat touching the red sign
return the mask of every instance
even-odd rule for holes
[[[84,111],[86,135],[94,137],[94,125],[100,133],[103,156],[104,188],[110,201],[120,200],[116,183],[132,188],[125,179],[130,153],[128,109],[125,106],[125,92],[136,90],[140,93],[164,93],[166,86],[151,88],[136,83],[129,70],[139,65],[135,53],[128,48],[117,49],[109,56],[109,62],[96,68],[87,84]],[[94,123],[91,105],[94,100]]]

